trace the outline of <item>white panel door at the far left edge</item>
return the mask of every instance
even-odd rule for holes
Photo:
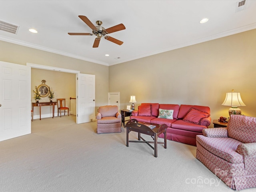
[[[31,68],[0,61],[0,141],[31,133]]]

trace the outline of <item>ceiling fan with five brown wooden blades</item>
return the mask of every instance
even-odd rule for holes
[[[92,22],[83,15],[79,15],[78,16],[80,19],[82,19],[83,22],[85,22],[91,29],[92,29],[92,33],[68,33],[69,35],[96,35],[97,37],[94,40],[94,44],[93,44],[93,48],[96,48],[99,46],[100,44],[100,38],[102,38],[102,36],[104,36],[104,38],[106,40],[109,40],[113,43],[116,43],[118,45],[122,45],[124,42],[117,40],[113,37],[108,36],[108,34],[116,32],[116,31],[120,31],[120,30],[124,30],[125,26],[124,24],[119,24],[110,28],[105,29],[104,27],[101,26],[102,21],[98,20],[96,21],[96,24],[98,26],[94,26],[94,24],[92,24]]]

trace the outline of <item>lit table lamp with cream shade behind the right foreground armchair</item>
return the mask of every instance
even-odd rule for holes
[[[226,98],[222,103],[224,106],[231,106],[228,110],[228,114],[230,115],[241,115],[241,110],[238,106],[246,106],[241,99],[240,92],[234,92],[232,89],[231,93],[226,93]]]

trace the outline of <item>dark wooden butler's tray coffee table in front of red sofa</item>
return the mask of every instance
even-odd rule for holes
[[[156,126],[155,128],[151,129],[145,124],[150,124]],[[137,142],[137,143],[146,143],[148,146],[150,146],[154,150],[154,156],[157,157],[157,144],[164,144],[164,148],[167,148],[166,145],[166,124],[154,124],[154,123],[144,123],[144,122],[138,122],[136,119],[131,119],[126,123],[126,146],[129,146],[129,142]],[[129,140],[129,133],[130,131],[138,132],[138,141],[136,140]],[[146,134],[150,135],[154,141],[146,141],[144,138],[140,136],[140,134]],[[164,142],[158,142],[158,136],[160,134],[164,134]],[[142,139],[143,141],[141,141]],[[154,147],[150,145],[150,143],[154,143]]]

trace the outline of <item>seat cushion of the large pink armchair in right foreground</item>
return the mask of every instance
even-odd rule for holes
[[[242,142],[233,138],[212,138],[197,135],[196,141],[212,154],[227,160],[230,163],[242,163],[243,156],[236,152]]]

